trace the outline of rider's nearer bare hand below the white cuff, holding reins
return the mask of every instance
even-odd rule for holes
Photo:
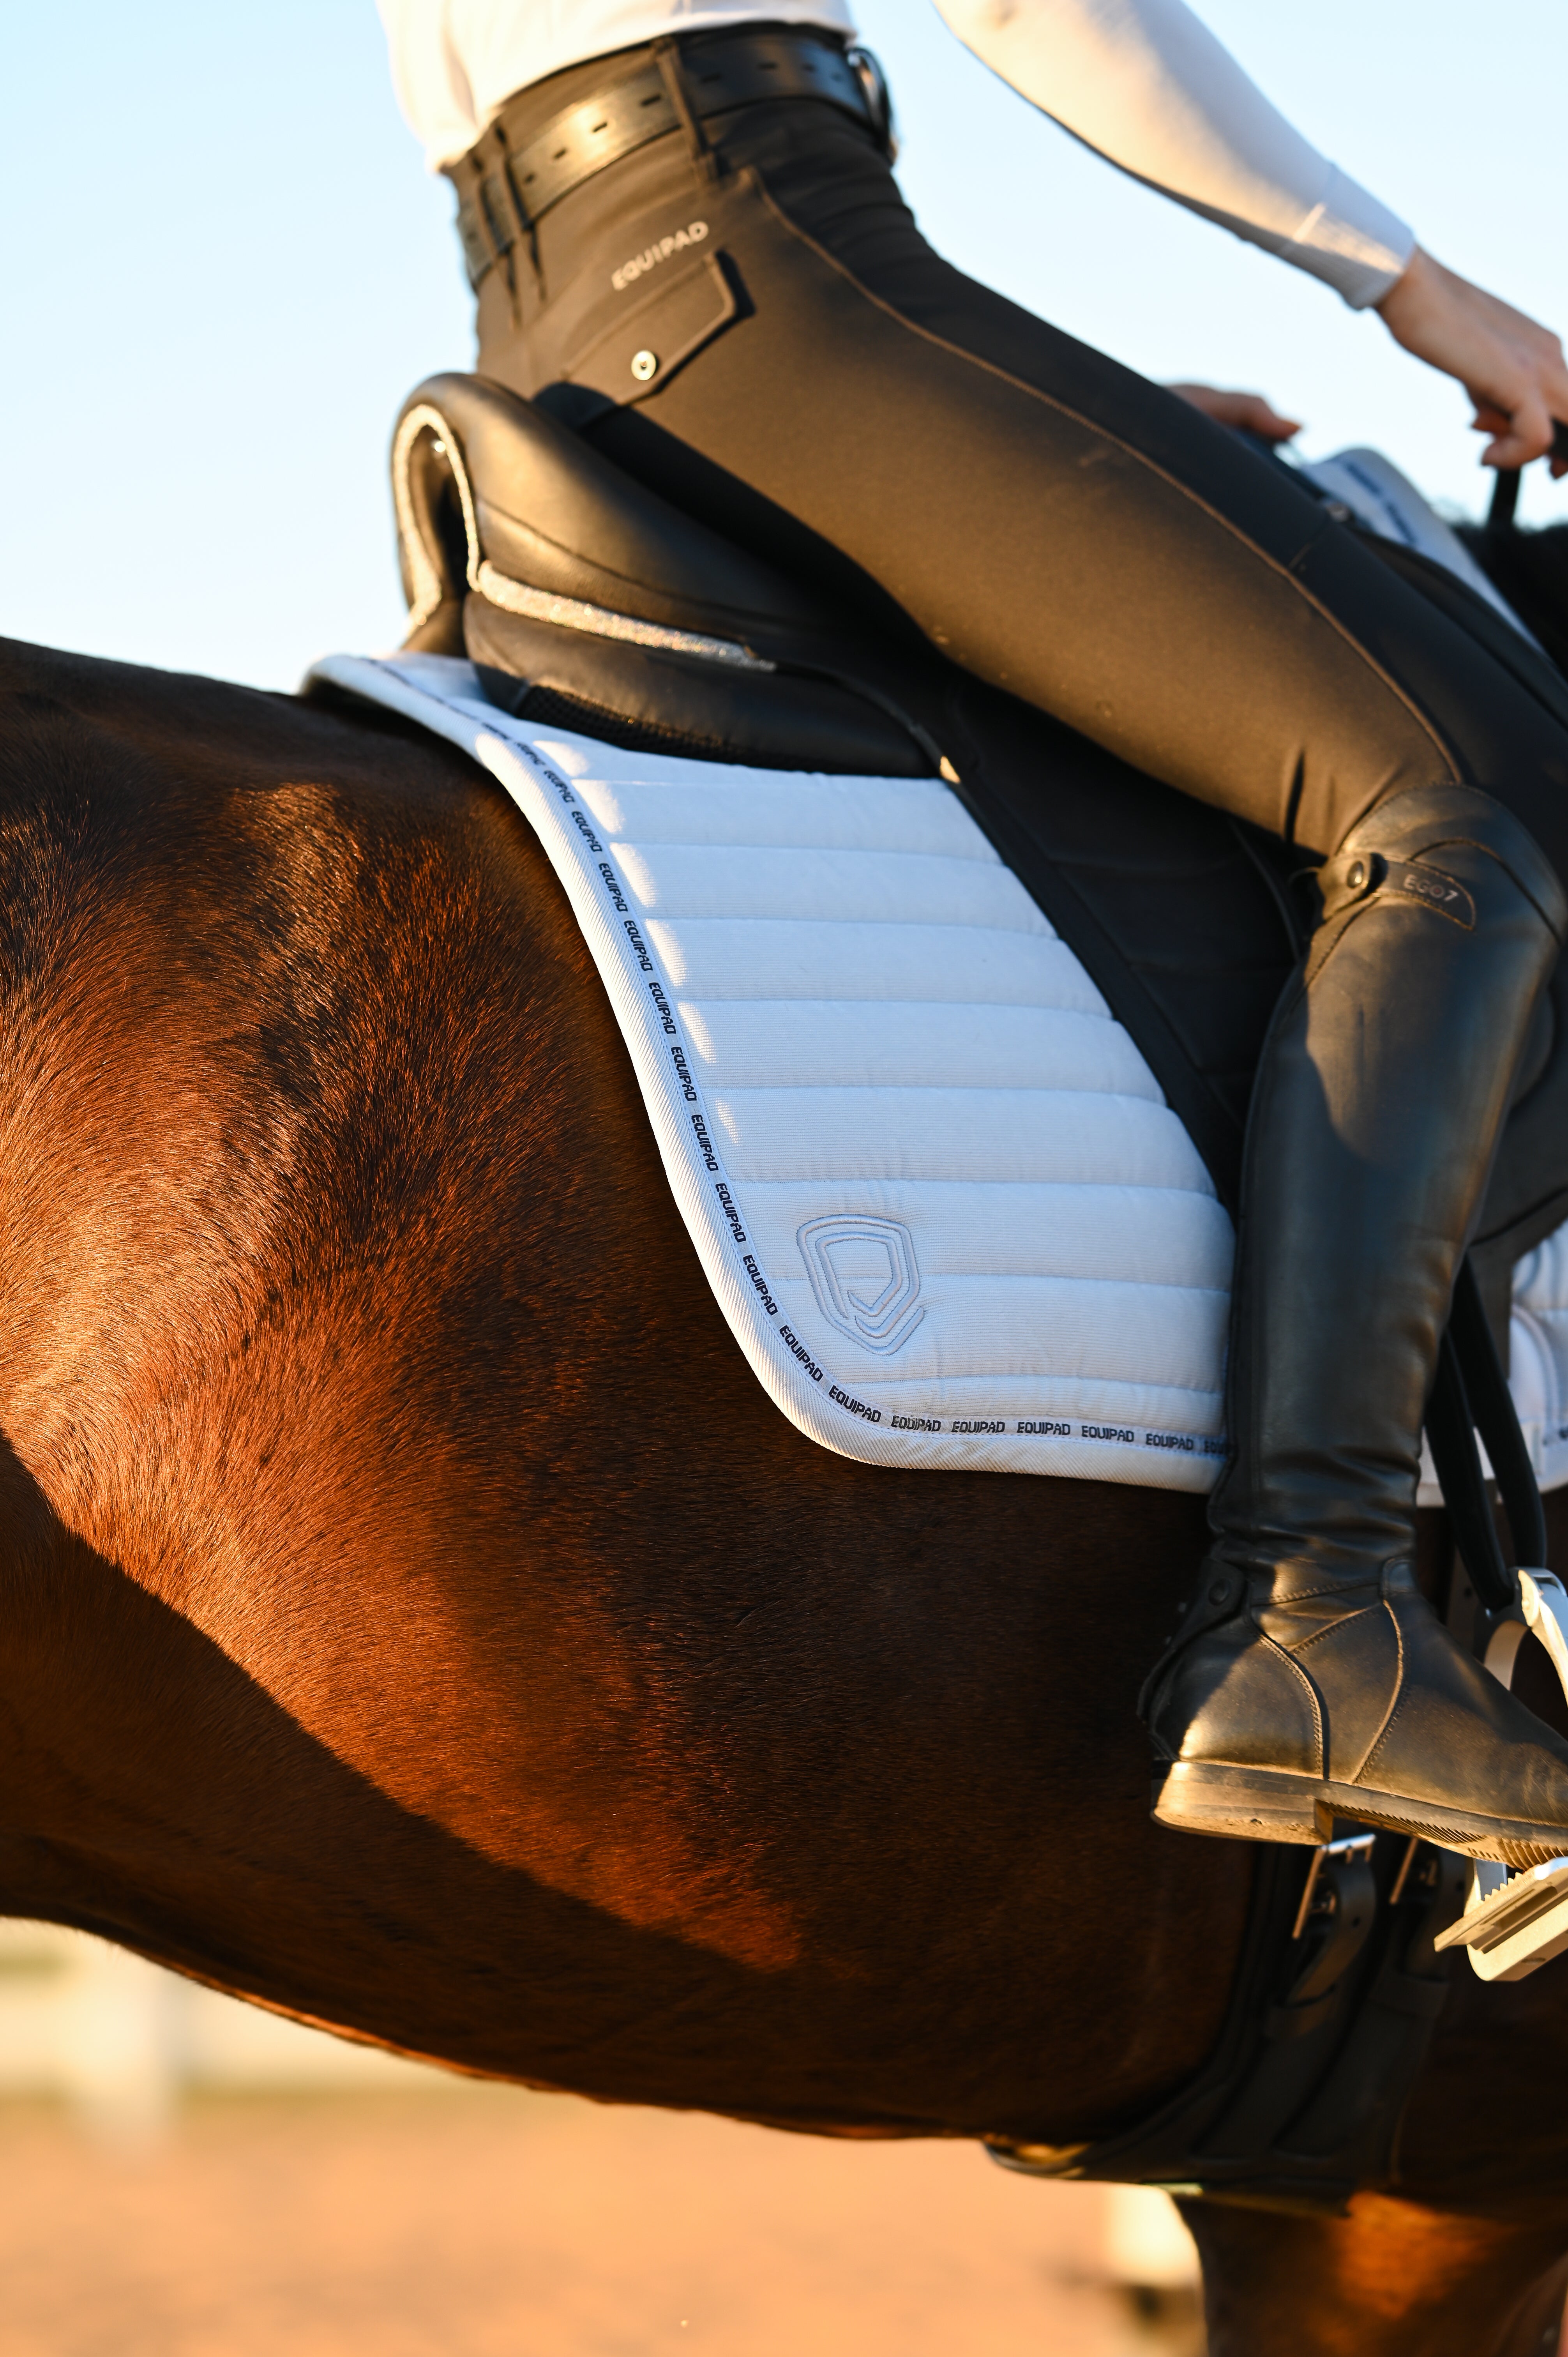
[[[1549,328],[1445,271],[1419,245],[1377,309],[1405,351],[1460,379],[1476,429],[1493,436],[1483,467],[1544,457],[1554,420],[1568,420],[1568,365]],[[1554,457],[1551,474],[1568,474],[1568,460]]]

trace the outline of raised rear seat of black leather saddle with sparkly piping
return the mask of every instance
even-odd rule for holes
[[[406,651],[519,719],[752,768],[934,775],[896,660],[533,403],[439,375],[391,443]]]

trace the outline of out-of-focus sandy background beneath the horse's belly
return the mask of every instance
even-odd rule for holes
[[[5,2357],[1198,2348],[1191,2291],[1118,2284],[1108,2190],[474,2086],[50,1940],[0,1940]]]

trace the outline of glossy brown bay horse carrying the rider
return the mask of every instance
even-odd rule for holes
[[[0,698],[0,1909],[825,2135],[1179,2088],[1254,1867],[1148,1820],[1203,1501],[769,1405],[457,752],[14,643]],[[1566,1987],[1455,1970],[1398,2197],[1188,2206],[1214,2357],[1556,2345]]]

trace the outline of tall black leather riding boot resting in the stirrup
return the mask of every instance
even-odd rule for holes
[[[1415,1586],[1419,1433],[1460,1254],[1568,910],[1490,794],[1382,804],[1320,874],[1247,1134],[1233,1459],[1146,1685],[1155,1815],[1471,1857],[1568,1853],[1568,1744]]]

